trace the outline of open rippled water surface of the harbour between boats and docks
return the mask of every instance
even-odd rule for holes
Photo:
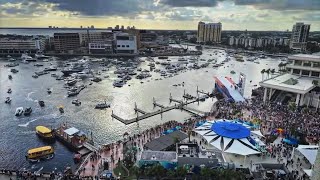
[[[212,49],[204,50],[204,54],[200,58],[210,59],[218,58],[218,62],[224,60],[225,56],[219,54],[215,56]],[[209,54],[213,54],[210,56]],[[177,57],[170,57],[172,61],[177,61]],[[61,64],[61,61],[53,61],[53,64]],[[35,71],[39,71],[49,66],[50,62],[43,62],[44,67],[35,67],[34,63],[23,64],[15,67],[19,70],[17,74],[13,74],[13,80],[8,79],[8,75],[12,74],[10,68],[4,67],[7,61],[0,60],[0,167],[10,169],[27,168],[38,170],[43,167],[43,171],[52,171],[57,168],[62,170],[66,165],[73,165],[73,153],[67,150],[59,142],[56,142],[56,156],[49,161],[37,164],[29,164],[25,160],[25,153],[29,148],[43,146],[45,143],[39,140],[35,134],[35,127],[44,125],[47,127],[57,127],[59,124],[67,122],[84,132],[93,136],[99,144],[111,143],[121,139],[124,132],[130,134],[138,133],[156,124],[164,123],[169,120],[183,121],[190,115],[186,112],[173,110],[161,116],[154,116],[149,119],[140,121],[139,124],[124,125],[117,120],[112,120],[111,111],[123,118],[135,117],[133,111],[134,103],[145,111],[153,111],[152,97],[163,105],[169,105],[169,94],[171,93],[176,99],[182,99],[183,91],[196,95],[196,86],[205,91],[212,91],[214,87],[214,76],[231,76],[238,79],[239,72],[243,72],[247,76],[245,96],[249,97],[251,89],[257,85],[262,76],[260,71],[265,68],[277,69],[277,59],[262,59],[260,64],[253,62],[237,62],[231,60],[224,66],[213,69],[212,65],[208,68],[199,70],[188,70],[184,73],[172,78],[155,81],[160,78],[158,73],[152,72],[152,79],[140,80],[133,78],[127,85],[122,88],[114,88],[112,86],[116,75],[113,74],[115,67],[108,72],[102,72],[101,77],[110,75],[109,78],[103,78],[99,83],[93,83],[84,89],[76,98],[81,102],[81,106],[74,106],[71,101],[74,99],[66,97],[67,90],[63,87],[63,81],[57,81],[50,74],[40,76],[37,79],[32,78]],[[144,69],[149,69],[148,62],[141,63]],[[156,65],[156,68],[161,65]],[[95,70],[101,70],[101,67],[95,65]],[[236,74],[230,74],[234,70]],[[57,74],[61,72],[55,72]],[[148,80],[150,80],[148,82]],[[250,83],[250,80],[252,82]],[[185,82],[184,87],[174,87],[173,84]],[[88,84],[88,81],[84,82]],[[128,86],[130,84],[130,86]],[[12,89],[12,94],[7,94],[7,89]],[[47,88],[52,88],[52,94],[48,95]],[[5,104],[5,97],[12,97],[11,105]],[[44,100],[45,108],[40,108],[38,100]],[[106,100],[111,102],[111,108],[106,110],[96,110],[94,106],[97,102]],[[202,111],[208,111],[215,100],[208,99],[200,105],[192,104],[190,107]],[[63,105],[65,113],[60,114],[57,107]],[[32,107],[31,116],[15,117],[14,112],[17,107]]]

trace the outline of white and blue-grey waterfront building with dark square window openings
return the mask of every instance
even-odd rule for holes
[[[114,51],[116,54],[137,54],[137,40],[136,36],[128,33],[117,32],[114,33],[115,47]]]

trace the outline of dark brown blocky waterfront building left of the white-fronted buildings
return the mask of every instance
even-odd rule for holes
[[[69,52],[80,48],[79,33],[54,33],[54,47],[57,52]]]

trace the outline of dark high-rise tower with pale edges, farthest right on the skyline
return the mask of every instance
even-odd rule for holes
[[[310,24],[296,23],[293,25],[290,49],[296,51],[305,51],[307,46],[307,39],[309,36]]]

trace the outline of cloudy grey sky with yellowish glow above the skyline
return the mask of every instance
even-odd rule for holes
[[[320,30],[320,0],[0,0],[0,27],[196,29],[199,21],[225,30]]]

